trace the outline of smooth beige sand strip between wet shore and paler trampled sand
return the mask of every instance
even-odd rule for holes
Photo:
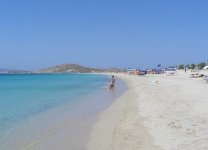
[[[116,74],[127,90],[99,116],[87,144],[88,150],[160,150],[138,117],[138,95],[131,76]],[[130,78],[129,78],[130,77]]]

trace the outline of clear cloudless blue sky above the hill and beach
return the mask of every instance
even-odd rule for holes
[[[207,8],[207,0],[0,1],[0,68],[206,61]]]

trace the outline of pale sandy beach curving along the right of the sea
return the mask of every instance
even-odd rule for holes
[[[182,71],[118,77],[128,90],[100,114],[88,150],[208,149],[208,84],[202,78]]]

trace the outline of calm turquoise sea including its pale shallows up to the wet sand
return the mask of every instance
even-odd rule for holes
[[[104,88],[108,78],[93,74],[0,75],[0,149],[32,149],[66,126],[76,130],[73,124],[100,112],[121,93],[119,88],[113,92]]]

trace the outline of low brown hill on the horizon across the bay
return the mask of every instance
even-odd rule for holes
[[[84,67],[77,64],[63,64],[57,65],[54,67],[44,68],[35,71],[34,73],[64,73],[64,72],[71,72],[71,73],[101,73],[101,72],[120,72],[121,70],[116,68],[110,69],[97,69],[97,68],[89,68]]]

